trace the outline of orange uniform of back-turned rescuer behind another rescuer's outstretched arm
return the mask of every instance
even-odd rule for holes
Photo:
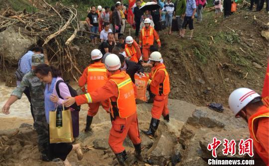
[[[78,81],[78,85],[81,87],[83,92],[85,90],[85,84],[87,83],[88,92],[93,92],[98,88],[101,88],[106,84],[109,77],[109,71],[106,69],[105,64],[102,62],[95,62],[85,68],[82,76]],[[95,116],[99,110],[100,104],[109,112],[110,103],[108,100],[103,100],[97,103],[89,103],[88,116]]]

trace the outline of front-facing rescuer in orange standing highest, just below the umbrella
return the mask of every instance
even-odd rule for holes
[[[144,20],[144,24],[145,26],[140,32],[139,45],[142,45],[143,61],[147,62],[149,56],[149,47],[154,44],[154,38],[158,44],[158,47],[161,46],[161,43],[158,33],[153,27],[150,26],[149,18]]]

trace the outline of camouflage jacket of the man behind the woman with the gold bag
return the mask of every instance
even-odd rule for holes
[[[44,107],[45,85],[40,82],[39,78],[36,77],[33,70],[29,71],[23,76],[20,85],[16,87],[11,95],[14,95],[20,99],[25,87],[29,88],[33,107]]]

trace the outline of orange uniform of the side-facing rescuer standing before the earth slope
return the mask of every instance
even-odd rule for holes
[[[154,119],[160,119],[161,115],[165,117],[169,114],[168,94],[170,92],[169,75],[163,63],[152,67],[149,74],[150,91],[155,95],[151,116]]]

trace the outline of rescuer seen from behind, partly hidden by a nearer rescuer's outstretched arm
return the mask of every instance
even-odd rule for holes
[[[87,83],[88,92],[93,92],[98,88],[101,88],[106,84],[109,77],[109,71],[106,69],[105,64],[101,62],[103,54],[99,49],[94,49],[91,52],[91,58],[94,61],[93,64],[90,64],[85,68],[82,76],[79,78],[78,85],[83,92],[85,90],[85,84]],[[86,120],[85,132],[91,131],[91,124],[93,117],[97,114],[100,104],[102,107],[109,112],[109,101],[104,100],[97,103],[89,103],[89,110]]]

